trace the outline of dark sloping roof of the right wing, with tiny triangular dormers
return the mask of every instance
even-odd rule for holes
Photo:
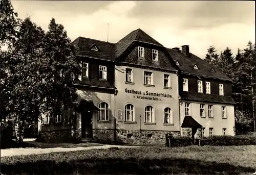
[[[190,53],[190,55],[186,57],[180,51],[176,51],[175,49],[167,48],[167,51],[173,59],[180,63],[178,68],[184,73],[189,73],[195,76],[216,78],[224,81],[231,81],[224,73],[218,70],[217,67],[212,66],[194,54]],[[199,67],[199,69],[194,69],[195,64]],[[212,67],[215,69],[215,72],[210,71]]]

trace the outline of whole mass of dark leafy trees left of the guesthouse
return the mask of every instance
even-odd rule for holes
[[[61,24],[52,19],[45,33],[30,18],[16,19],[10,1],[1,2],[1,122],[13,121],[18,142],[26,124],[63,114],[76,102],[76,51]],[[1,31],[2,34],[2,31]]]

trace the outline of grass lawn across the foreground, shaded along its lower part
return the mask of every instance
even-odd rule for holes
[[[3,174],[245,174],[256,170],[256,146],[92,149],[1,158]]]

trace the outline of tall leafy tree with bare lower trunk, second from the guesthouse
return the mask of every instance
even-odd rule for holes
[[[30,18],[20,23],[20,29],[13,42],[9,60],[11,91],[7,94],[11,110],[8,120],[15,123],[16,141],[23,141],[26,122],[37,120],[40,115],[41,80],[38,70],[43,56],[44,31]]]

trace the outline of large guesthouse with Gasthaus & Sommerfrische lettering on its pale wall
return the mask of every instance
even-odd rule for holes
[[[164,144],[165,134],[190,132],[181,128],[185,116],[201,124],[197,135],[233,135],[230,80],[188,46],[165,48],[140,29],[117,43],[73,43],[82,69],[74,85],[79,105],[38,122],[41,139]]]

